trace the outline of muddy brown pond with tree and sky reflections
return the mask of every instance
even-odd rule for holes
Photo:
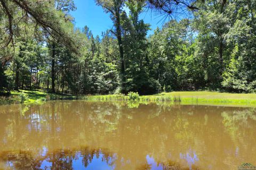
[[[0,169],[237,169],[256,165],[255,143],[255,108],[0,106]]]

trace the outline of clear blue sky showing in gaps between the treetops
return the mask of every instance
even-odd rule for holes
[[[92,31],[93,35],[100,35],[102,31],[111,29],[113,26],[112,21],[109,18],[109,14],[105,13],[102,7],[97,6],[94,0],[74,0],[77,7],[76,11],[71,12],[71,15],[75,18],[75,24],[78,28],[83,28],[87,25]],[[156,27],[162,27],[161,18],[157,18],[155,14],[151,14],[150,11],[145,11],[140,16],[145,23],[151,25],[151,29],[148,35],[153,34]]]

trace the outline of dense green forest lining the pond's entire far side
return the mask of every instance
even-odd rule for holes
[[[95,3],[113,21],[99,36],[75,27],[72,0],[0,0],[0,91],[256,92],[255,0]],[[168,20],[149,36],[148,9]]]

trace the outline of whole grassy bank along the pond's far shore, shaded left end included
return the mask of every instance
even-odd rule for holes
[[[27,96],[27,98],[23,102],[21,102],[22,93]],[[43,91],[20,90],[19,92],[12,91],[9,98],[1,98],[0,104],[39,104],[47,100],[66,99],[84,99],[90,101],[129,101],[131,100],[131,97],[122,94],[76,97],[72,95],[47,94]],[[230,94],[210,91],[177,91],[164,92],[161,94],[150,96],[135,96],[135,101],[137,101],[137,103],[165,102],[180,104],[256,106],[256,94]]]

